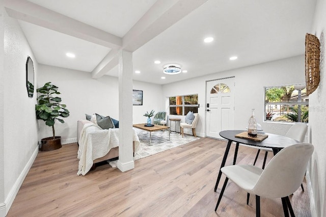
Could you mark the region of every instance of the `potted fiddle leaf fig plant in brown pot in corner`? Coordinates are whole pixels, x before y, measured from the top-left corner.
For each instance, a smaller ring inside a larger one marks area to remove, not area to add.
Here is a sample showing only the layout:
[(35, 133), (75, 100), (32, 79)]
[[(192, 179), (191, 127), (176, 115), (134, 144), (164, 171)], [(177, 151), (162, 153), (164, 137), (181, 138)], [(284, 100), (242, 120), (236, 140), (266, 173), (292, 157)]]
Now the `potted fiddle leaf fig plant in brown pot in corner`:
[(51, 151), (62, 147), (61, 137), (56, 137), (55, 123), (58, 120), (61, 123), (65, 121), (62, 118), (69, 116), (69, 111), (65, 104), (61, 104), (61, 94), (58, 87), (52, 85), (51, 82), (45, 83), (43, 87), (36, 90), (39, 93), (37, 103), (35, 105), (36, 119), (45, 121), (47, 126), (52, 127), (53, 137), (41, 140), (41, 151)]

